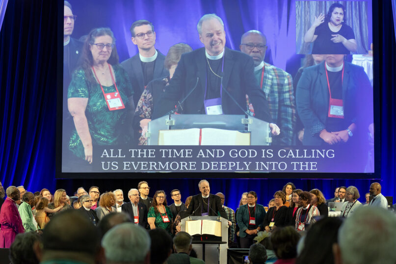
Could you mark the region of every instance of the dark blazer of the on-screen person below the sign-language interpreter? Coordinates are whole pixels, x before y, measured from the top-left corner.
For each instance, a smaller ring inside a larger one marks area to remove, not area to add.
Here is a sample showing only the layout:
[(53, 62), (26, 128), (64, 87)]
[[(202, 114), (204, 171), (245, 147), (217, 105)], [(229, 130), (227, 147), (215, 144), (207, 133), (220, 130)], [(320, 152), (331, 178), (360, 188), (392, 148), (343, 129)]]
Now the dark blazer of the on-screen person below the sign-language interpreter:
[[(356, 123), (353, 138), (367, 141), (367, 128), (373, 122), (372, 87), (363, 67), (344, 61), (343, 106), (345, 128)], [(319, 132), (326, 128), (329, 109), (329, 91), (324, 62), (305, 68), (296, 90), (298, 115), (304, 124), (303, 145), (320, 146), (324, 141)], [(360, 133), (359, 133), (360, 132)], [(356, 133), (356, 134), (355, 134)]]

